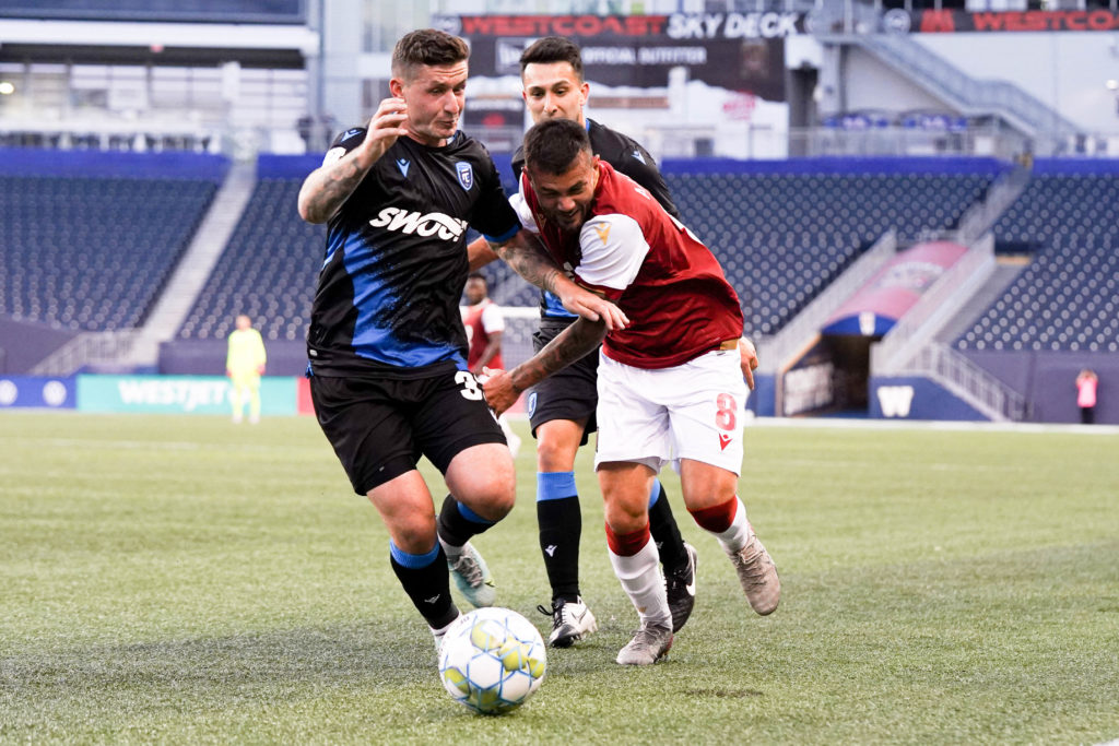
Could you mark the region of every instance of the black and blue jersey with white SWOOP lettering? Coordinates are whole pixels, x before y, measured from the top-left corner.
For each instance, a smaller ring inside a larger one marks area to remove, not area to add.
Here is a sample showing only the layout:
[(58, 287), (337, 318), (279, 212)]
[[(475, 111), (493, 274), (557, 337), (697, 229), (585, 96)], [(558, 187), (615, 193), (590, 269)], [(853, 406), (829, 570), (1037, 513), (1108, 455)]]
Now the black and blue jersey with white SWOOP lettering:
[[(323, 162), (365, 135), (347, 130)], [(312, 374), (464, 370), (468, 225), (496, 242), (520, 228), (486, 148), (461, 132), (442, 148), (397, 139), (327, 224), (307, 340)]]

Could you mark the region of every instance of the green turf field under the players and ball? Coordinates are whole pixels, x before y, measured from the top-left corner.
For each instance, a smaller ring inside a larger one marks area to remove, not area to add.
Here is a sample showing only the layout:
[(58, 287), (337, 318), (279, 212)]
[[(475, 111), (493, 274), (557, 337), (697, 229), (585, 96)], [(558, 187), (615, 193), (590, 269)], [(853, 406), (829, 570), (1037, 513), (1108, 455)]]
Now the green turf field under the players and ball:
[[(499, 603), (546, 633), (530, 444), (517, 509), (477, 545)], [(1119, 738), (1119, 436), (755, 426), (746, 448), (781, 607), (750, 611), (666, 475), (696, 612), (666, 661), (617, 665), (636, 614), (584, 448), (601, 629), (495, 718), (443, 691), (376, 512), (311, 419), (2, 413), (0, 742)]]

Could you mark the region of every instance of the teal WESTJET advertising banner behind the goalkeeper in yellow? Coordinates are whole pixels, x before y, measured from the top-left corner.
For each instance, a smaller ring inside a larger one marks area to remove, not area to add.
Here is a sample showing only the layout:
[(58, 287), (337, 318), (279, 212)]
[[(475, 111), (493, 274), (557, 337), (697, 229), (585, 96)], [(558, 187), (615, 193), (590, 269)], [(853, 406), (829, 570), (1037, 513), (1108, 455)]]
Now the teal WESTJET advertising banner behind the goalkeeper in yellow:
[[(261, 379), (261, 414), (295, 414), (295, 378)], [(82, 412), (229, 415), (233, 387), (222, 376), (78, 376)]]

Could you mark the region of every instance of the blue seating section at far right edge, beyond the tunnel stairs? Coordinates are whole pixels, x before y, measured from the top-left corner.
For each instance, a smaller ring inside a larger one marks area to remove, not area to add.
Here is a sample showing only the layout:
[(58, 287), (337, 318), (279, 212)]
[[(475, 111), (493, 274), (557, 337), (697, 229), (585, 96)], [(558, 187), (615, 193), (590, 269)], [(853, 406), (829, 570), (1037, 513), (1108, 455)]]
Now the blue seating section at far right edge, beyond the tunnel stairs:
[(995, 226), (1004, 253), (1033, 261), (956, 346), (1119, 351), (1117, 204), (1117, 174), (1035, 176)]

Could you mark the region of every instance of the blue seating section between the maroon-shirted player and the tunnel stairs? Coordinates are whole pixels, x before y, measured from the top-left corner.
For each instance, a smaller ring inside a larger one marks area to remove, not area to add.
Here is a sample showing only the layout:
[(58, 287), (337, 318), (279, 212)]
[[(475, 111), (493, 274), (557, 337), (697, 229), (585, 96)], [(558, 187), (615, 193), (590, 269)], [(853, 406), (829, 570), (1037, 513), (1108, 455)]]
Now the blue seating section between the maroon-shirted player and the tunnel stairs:
[[(882, 234), (953, 227), (989, 173), (668, 173), (685, 224), (720, 257), (746, 329), (772, 334)], [(508, 273), (500, 282), (517, 282)], [(493, 280), (491, 278), (491, 284)], [(532, 305), (536, 291), (492, 292)]]

